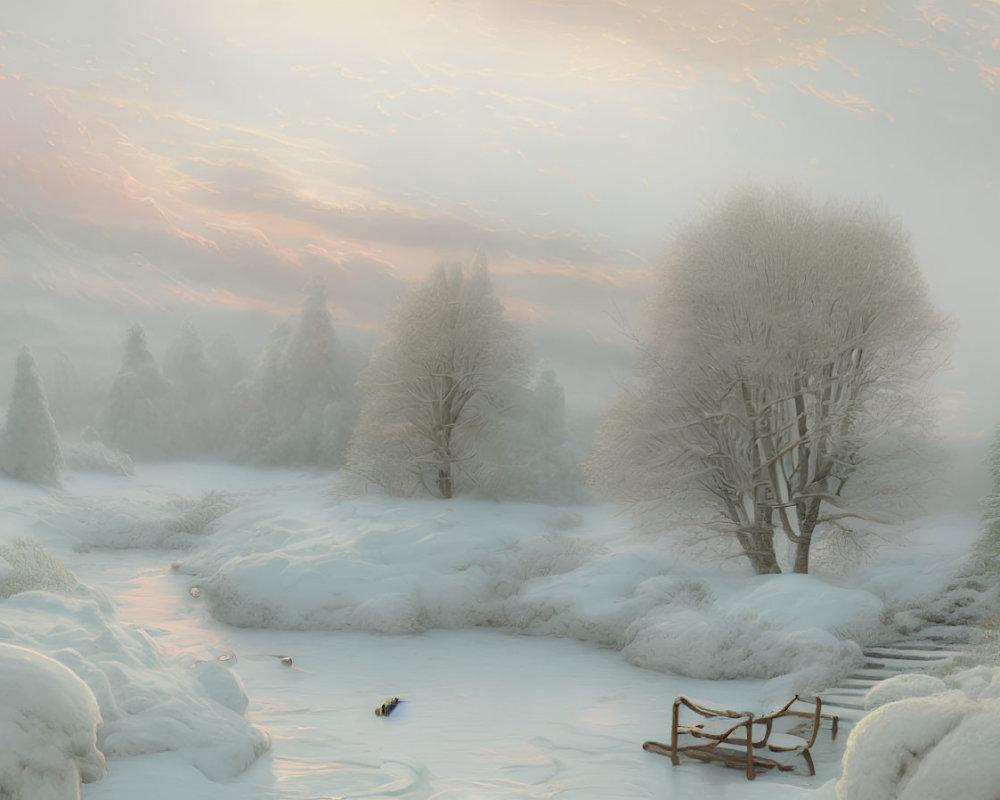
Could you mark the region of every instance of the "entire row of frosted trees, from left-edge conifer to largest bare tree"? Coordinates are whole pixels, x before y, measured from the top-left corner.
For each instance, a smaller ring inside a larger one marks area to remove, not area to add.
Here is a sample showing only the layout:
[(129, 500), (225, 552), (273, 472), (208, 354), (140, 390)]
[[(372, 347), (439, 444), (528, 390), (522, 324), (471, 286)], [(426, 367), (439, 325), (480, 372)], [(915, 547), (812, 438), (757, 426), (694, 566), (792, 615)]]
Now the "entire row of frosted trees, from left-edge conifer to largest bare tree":
[[(0, 465), (52, 483), (64, 458), (127, 471), (130, 458), (212, 454), (343, 469), (393, 495), (556, 503), (589, 483), (654, 526), (716, 531), (760, 573), (780, 571), (784, 537), (806, 572), (817, 531), (849, 534), (851, 520), (912, 497), (944, 327), (896, 222), (744, 188), (676, 238), (636, 334), (634, 379), (583, 464), (562, 388), (536, 369), (476, 261), (413, 285), (360, 375), (320, 281), (252, 370), (232, 340), (209, 351), (190, 324), (161, 365), (134, 325), (103, 406), (65, 447), (25, 349)], [(63, 426), (81, 421), (73, 382), (66, 365), (53, 406)]]

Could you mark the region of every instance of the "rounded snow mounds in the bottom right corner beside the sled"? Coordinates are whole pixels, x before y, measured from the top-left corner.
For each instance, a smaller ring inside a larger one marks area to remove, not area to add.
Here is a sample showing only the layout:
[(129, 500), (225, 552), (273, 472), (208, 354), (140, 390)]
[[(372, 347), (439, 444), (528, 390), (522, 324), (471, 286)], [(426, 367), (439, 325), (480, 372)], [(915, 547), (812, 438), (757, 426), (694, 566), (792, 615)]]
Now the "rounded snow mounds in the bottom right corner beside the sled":
[(956, 789), (962, 800), (996, 798), (1000, 667), (896, 676), (865, 705), (882, 702), (851, 731), (838, 800), (940, 800)]

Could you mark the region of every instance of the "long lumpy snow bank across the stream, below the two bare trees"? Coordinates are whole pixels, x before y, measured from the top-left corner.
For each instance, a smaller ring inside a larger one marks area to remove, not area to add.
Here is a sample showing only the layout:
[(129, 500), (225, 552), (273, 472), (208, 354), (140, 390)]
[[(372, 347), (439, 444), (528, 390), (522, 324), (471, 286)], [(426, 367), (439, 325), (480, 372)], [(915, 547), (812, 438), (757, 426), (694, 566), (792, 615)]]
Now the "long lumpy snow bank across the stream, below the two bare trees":
[(881, 602), (797, 575), (720, 575), (607, 509), (387, 501), (302, 488), (216, 523), (183, 562), (244, 627), (413, 633), (481, 625), (617, 648), (693, 677), (825, 688), (861, 660)]

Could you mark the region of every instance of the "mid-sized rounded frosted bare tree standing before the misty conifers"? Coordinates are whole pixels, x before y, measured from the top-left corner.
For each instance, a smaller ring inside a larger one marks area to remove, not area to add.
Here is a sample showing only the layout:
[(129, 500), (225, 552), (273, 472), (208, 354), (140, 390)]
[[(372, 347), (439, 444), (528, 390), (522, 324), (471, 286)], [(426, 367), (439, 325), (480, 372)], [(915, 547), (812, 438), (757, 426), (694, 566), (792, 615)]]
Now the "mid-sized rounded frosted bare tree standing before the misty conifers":
[(528, 379), (485, 263), (438, 267), (404, 295), (362, 376), (348, 466), (394, 494), (502, 491), (484, 483), (501, 474), (502, 421)]

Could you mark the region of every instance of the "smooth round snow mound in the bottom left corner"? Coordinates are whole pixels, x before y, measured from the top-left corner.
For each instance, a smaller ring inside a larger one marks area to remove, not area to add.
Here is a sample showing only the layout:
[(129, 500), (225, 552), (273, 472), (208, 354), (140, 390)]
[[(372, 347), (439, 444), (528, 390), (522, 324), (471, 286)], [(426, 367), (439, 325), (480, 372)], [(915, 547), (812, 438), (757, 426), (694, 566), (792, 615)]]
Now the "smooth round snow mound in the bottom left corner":
[(0, 797), (76, 800), (107, 772), (94, 693), (47, 656), (0, 643)]

